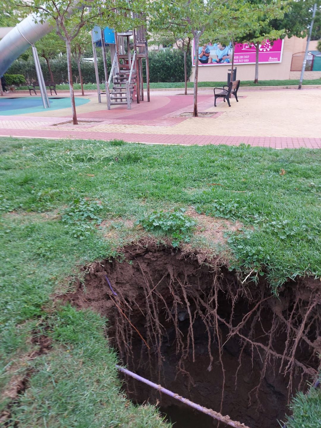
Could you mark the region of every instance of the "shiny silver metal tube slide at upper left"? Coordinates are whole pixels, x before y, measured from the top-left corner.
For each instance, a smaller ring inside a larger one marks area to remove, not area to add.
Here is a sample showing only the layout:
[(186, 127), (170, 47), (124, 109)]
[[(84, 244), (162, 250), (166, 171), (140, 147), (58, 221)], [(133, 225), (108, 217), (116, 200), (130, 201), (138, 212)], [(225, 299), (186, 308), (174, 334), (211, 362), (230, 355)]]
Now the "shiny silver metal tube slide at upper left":
[(50, 33), (52, 27), (44, 22), (40, 23), (36, 14), (29, 15), (19, 22), (3, 39), (0, 40), (0, 76), (4, 74), (10, 64), (24, 53), (30, 45)]

